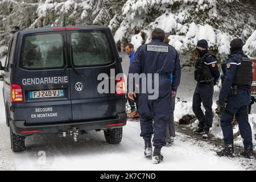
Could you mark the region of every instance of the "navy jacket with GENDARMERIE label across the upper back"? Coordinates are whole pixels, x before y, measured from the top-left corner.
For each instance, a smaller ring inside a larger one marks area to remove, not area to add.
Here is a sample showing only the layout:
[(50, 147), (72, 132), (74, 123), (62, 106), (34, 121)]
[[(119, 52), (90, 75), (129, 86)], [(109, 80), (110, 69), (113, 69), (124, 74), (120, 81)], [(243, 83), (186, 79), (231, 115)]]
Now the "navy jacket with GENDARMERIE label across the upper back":
[(159, 78), (169, 79), (172, 73), (172, 90), (176, 91), (181, 77), (179, 55), (174, 47), (155, 39), (137, 49), (129, 73), (159, 73)]

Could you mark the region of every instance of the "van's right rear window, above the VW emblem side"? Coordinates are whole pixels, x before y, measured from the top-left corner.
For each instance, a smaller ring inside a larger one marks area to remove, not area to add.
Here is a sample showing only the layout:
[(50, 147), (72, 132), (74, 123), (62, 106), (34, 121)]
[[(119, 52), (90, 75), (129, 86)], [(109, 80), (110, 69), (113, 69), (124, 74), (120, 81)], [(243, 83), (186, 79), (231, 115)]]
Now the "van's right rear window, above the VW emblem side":
[(112, 47), (104, 31), (71, 34), (73, 64), (77, 67), (105, 65), (114, 62)]

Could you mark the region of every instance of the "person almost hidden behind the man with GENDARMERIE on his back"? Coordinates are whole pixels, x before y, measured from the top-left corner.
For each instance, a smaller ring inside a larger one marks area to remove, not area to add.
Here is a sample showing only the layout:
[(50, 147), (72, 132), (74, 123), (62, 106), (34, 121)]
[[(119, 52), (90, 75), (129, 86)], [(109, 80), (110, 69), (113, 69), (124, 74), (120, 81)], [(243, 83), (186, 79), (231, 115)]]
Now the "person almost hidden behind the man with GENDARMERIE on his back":
[[(167, 36), (164, 38), (164, 43), (169, 44), (169, 39)], [(171, 73), (171, 83), (172, 83), (172, 73)], [(170, 110), (170, 119), (167, 124), (167, 133), (166, 133), (166, 146), (170, 147), (174, 143), (175, 137), (175, 127), (174, 127), (174, 109), (175, 109), (175, 97), (176, 92), (171, 92), (171, 110)]]

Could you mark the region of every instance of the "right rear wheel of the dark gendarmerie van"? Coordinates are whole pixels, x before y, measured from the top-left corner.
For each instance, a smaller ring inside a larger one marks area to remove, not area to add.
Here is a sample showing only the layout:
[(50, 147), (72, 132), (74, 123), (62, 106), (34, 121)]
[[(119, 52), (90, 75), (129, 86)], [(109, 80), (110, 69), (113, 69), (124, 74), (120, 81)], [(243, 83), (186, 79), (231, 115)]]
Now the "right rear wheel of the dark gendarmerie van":
[(106, 142), (110, 144), (118, 144), (122, 140), (123, 128), (118, 127), (115, 129), (104, 130), (104, 135), (105, 135)]

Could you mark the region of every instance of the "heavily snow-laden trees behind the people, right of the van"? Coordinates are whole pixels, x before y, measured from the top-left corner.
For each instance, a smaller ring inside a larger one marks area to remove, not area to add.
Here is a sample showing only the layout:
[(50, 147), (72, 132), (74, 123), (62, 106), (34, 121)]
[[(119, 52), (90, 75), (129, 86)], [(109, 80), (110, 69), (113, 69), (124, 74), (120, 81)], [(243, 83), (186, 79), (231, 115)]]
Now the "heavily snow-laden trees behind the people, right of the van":
[(254, 7), (255, 1), (130, 0), (123, 5), (115, 41), (129, 40), (139, 46), (149, 42), (152, 29), (159, 27), (180, 53), (195, 48), (197, 40), (207, 39), (210, 48), (226, 55), (233, 38), (246, 41), (255, 31)]

